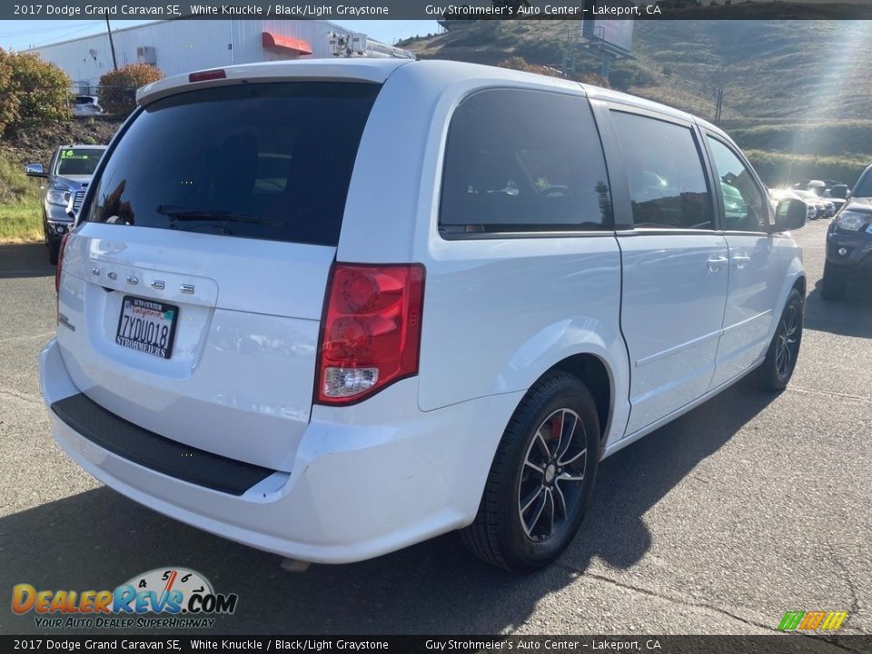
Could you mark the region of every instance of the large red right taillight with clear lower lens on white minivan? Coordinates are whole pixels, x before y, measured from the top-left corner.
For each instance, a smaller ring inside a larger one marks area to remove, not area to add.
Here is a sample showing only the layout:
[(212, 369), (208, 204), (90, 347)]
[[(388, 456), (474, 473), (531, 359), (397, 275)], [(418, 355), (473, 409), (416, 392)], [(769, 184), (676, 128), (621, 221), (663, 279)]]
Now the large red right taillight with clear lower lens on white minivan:
[(424, 267), (334, 263), (315, 401), (351, 404), (418, 373)]

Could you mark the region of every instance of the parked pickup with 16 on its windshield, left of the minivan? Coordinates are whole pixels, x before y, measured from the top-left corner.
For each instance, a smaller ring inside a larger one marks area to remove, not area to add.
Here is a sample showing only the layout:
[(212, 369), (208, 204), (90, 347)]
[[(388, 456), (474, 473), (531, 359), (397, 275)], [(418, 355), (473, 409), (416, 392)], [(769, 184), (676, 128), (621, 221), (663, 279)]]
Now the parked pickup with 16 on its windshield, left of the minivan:
[(78, 211), (84, 193), (75, 194), (87, 188), (94, 174), (94, 168), (106, 149), (105, 145), (59, 145), (52, 154), (45, 172), (42, 163), (28, 163), (25, 173), (31, 177), (45, 179), (43, 196), (43, 233), (48, 246), (48, 259), (57, 263), (61, 240), (73, 226), (74, 216), (71, 212)]

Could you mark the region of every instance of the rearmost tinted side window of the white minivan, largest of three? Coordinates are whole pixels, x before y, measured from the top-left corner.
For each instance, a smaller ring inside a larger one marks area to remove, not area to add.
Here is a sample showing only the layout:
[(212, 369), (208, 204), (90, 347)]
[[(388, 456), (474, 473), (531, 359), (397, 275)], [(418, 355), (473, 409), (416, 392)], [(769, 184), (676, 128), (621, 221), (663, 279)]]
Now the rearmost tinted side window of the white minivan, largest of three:
[(494, 89), (454, 112), (440, 233), (611, 229), (609, 178), (585, 98)]

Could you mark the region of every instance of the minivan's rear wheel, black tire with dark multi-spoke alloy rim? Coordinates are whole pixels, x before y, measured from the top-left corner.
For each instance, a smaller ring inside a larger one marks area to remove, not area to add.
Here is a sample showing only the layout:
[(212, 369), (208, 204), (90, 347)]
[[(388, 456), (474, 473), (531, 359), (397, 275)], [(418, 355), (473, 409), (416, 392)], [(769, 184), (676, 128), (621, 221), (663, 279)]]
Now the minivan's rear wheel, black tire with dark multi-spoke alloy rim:
[[(560, 438), (554, 439), (551, 434), (558, 425)], [(563, 438), (568, 439), (565, 445)], [(530, 465), (531, 459), (539, 467)], [(567, 372), (550, 372), (530, 388), (512, 415), (490, 466), (479, 512), (461, 531), (464, 543), (481, 560), (505, 570), (531, 572), (547, 566), (579, 530), (598, 465), (599, 418), (590, 391)], [(528, 504), (525, 513), (522, 504), (530, 498), (536, 503)]]

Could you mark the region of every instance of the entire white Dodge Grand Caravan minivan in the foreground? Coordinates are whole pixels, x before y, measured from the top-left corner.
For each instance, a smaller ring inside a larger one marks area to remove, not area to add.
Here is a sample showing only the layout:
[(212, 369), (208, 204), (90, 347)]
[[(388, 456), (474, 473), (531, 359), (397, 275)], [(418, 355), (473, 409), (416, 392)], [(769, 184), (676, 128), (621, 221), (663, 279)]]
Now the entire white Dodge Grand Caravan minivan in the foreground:
[(462, 529), (533, 570), (600, 459), (794, 370), (806, 207), (773, 210), (693, 116), (396, 60), (233, 66), (138, 103), (40, 368), (64, 450), (175, 519), (325, 563)]

